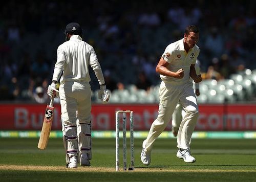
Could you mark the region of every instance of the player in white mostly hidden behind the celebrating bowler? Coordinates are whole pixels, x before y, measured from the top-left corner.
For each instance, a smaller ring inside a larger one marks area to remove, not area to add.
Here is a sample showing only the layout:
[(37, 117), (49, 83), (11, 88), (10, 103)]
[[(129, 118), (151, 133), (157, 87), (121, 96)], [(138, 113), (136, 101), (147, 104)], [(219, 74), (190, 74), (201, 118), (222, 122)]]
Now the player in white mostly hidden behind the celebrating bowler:
[[(195, 64), (195, 69), (197, 75), (200, 74), (200, 61), (197, 59), (196, 64)], [(189, 79), (189, 81), (194, 82), (193, 79)], [(200, 90), (199, 90), (199, 83), (195, 83), (195, 94), (196, 96), (200, 95)], [(184, 118), (186, 115), (186, 111), (183, 109), (182, 105), (180, 103), (177, 104), (174, 113), (173, 113), (173, 118), (172, 118), (172, 132), (174, 134), (174, 137), (177, 137), (179, 128), (180, 128), (180, 123), (182, 121), (182, 118)]]

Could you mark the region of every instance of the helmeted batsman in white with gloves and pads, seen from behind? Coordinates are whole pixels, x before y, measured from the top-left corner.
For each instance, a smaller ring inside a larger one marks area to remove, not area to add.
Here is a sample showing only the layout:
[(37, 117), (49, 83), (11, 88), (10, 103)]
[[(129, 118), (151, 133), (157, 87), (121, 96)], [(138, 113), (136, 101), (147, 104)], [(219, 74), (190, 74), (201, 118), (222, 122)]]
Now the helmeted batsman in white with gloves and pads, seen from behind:
[[(77, 168), (77, 161), (80, 161), (81, 166), (90, 166), (92, 159), (89, 65), (99, 81), (98, 98), (102, 103), (109, 101), (110, 90), (106, 89), (93, 47), (82, 40), (80, 25), (76, 22), (68, 24), (65, 36), (66, 42), (57, 49), (57, 61), (48, 95), (55, 97), (59, 92), (63, 143), (67, 151), (66, 163), (68, 168)], [(56, 82), (59, 78), (60, 86), (57, 90)]]

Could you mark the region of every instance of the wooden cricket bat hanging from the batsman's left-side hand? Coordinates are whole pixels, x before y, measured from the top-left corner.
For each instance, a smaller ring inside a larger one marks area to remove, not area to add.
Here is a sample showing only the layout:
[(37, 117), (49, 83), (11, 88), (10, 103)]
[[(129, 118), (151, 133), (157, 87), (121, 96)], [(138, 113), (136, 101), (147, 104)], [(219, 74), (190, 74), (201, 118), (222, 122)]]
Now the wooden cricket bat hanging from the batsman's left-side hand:
[(42, 150), (44, 150), (47, 147), (49, 135), (51, 132), (54, 111), (53, 100), (54, 98), (51, 97), (50, 105), (46, 107), (44, 122), (42, 122), (40, 139), (37, 145), (37, 147)]

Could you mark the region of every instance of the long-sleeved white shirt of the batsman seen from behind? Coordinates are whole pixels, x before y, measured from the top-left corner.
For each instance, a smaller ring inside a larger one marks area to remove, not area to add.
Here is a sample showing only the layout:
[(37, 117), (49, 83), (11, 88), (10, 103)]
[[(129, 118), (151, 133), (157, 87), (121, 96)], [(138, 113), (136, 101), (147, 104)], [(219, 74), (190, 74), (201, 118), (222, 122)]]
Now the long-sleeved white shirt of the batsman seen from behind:
[(69, 41), (59, 45), (52, 80), (90, 82), (89, 65), (98, 74), (99, 84), (104, 84), (104, 77), (93, 47), (79, 35), (72, 35)]

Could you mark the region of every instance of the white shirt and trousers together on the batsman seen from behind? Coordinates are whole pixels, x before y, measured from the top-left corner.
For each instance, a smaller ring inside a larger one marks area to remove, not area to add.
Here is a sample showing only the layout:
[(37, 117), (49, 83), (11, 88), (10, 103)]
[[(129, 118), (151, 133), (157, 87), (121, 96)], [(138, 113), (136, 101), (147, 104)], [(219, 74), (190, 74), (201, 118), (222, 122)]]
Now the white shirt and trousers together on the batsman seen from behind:
[(89, 65), (91, 65), (99, 84), (104, 77), (93, 47), (79, 35), (72, 35), (69, 41), (59, 45), (53, 78), (60, 78), (59, 97), (61, 120), (63, 124), (76, 126), (91, 120), (91, 86)]

